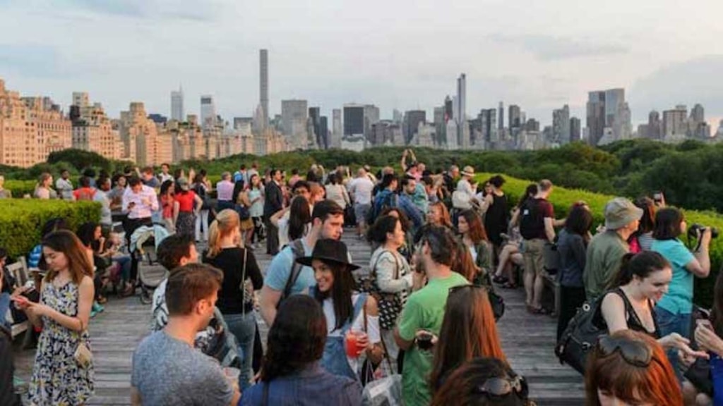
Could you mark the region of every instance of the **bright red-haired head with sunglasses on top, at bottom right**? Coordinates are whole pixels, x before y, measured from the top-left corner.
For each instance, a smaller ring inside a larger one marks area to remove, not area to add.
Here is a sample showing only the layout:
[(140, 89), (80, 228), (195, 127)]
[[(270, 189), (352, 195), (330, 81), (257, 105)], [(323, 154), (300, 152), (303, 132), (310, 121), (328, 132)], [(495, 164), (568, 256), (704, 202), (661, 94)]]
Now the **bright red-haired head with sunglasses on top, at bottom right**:
[(599, 340), (588, 359), (585, 390), (587, 406), (683, 405), (663, 347), (648, 334), (633, 330)]

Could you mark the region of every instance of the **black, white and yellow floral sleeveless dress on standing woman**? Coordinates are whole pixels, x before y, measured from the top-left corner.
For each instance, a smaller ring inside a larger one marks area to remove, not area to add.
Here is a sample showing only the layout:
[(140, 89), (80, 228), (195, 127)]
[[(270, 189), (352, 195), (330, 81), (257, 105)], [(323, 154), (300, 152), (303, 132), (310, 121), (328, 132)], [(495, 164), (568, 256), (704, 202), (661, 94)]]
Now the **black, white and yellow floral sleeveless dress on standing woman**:
[[(43, 283), (40, 303), (67, 316), (78, 314), (78, 285), (67, 282), (61, 288)], [(80, 341), (90, 349), (87, 330), (79, 333), (43, 316), (43, 332), (35, 353), (33, 379), (30, 382), (32, 405), (80, 405), (93, 395), (93, 364), (78, 366), (74, 353)]]

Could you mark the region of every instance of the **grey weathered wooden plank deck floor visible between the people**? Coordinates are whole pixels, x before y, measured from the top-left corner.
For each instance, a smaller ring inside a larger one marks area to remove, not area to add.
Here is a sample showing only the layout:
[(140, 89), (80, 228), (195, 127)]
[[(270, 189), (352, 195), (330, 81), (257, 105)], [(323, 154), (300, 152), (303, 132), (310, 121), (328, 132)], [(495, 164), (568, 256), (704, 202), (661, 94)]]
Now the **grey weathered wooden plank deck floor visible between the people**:
[[(369, 264), (369, 246), (345, 233), (354, 262)], [(270, 256), (257, 249), (261, 269), (266, 269)], [(555, 346), (556, 321), (549, 316), (531, 316), (525, 311), (522, 290), (501, 290), (505, 298), (505, 316), (498, 324), (502, 347), (515, 371), (529, 381), (531, 397), (539, 405), (582, 405), (583, 380), (568, 366), (557, 362)], [(262, 339), (268, 329), (260, 320)], [(95, 397), (88, 405), (129, 405), (131, 358), (138, 342), (150, 328), (150, 305), (142, 305), (137, 297), (110, 298), (106, 311), (90, 323), (90, 338), (95, 355)], [(16, 343), (17, 344), (17, 343)], [(19, 348), (19, 345), (16, 345)], [(33, 368), (34, 351), (18, 350), (15, 366), (22, 379), (28, 381)]]

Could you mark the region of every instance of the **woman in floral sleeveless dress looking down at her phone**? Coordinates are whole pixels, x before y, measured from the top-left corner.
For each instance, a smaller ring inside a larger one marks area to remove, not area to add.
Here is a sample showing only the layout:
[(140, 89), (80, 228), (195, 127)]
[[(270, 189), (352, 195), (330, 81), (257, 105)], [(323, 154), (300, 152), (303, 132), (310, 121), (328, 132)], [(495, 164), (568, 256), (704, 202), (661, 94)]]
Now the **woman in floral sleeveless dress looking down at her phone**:
[(93, 305), (93, 265), (80, 240), (67, 230), (43, 239), (48, 273), (40, 303), (15, 298), (35, 327), (42, 327), (35, 353), (30, 402), (82, 405), (93, 395), (93, 362), (82, 366), (79, 345), (90, 350), (87, 325)]

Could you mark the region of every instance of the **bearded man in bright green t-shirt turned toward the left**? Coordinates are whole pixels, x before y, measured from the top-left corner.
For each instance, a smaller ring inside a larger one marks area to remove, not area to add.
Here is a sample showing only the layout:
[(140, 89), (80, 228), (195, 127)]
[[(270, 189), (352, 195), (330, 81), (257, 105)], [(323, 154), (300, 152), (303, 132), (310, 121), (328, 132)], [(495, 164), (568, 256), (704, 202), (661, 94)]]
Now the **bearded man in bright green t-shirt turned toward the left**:
[(440, 334), (450, 288), (469, 283), (450, 269), (455, 251), (454, 236), (450, 230), (443, 227), (428, 228), (420, 244), (419, 260), (428, 283), (409, 296), (394, 330), (397, 345), (406, 351), (402, 396), (407, 406), (426, 406), (432, 399), (427, 381), (432, 372), (432, 349), (420, 349), (416, 345), (417, 337), (424, 332), (435, 336)]

